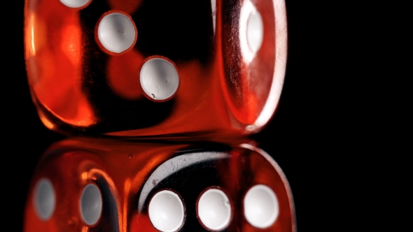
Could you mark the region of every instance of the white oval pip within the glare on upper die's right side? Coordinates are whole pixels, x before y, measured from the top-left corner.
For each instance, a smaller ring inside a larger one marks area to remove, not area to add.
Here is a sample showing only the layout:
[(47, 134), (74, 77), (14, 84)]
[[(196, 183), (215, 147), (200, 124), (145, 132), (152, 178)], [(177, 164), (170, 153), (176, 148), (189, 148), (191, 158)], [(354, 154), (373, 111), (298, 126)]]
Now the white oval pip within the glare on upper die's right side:
[(246, 41), (251, 51), (255, 53), (260, 50), (263, 37), (264, 26), (262, 24), (262, 17), (258, 11), (253, 11), (249, 15), (246, 24)]

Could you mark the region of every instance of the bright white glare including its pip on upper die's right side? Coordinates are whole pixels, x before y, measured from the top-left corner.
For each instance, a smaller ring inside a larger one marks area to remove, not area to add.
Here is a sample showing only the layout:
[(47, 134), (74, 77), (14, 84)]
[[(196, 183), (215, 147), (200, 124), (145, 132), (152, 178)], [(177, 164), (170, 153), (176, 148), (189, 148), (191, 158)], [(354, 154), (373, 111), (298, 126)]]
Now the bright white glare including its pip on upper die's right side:
[(239, 43), (242, 57), (250, 63), (260, 50), (264, 37), (262, 17), (251, 1), (245, 1), (239, 16)]

